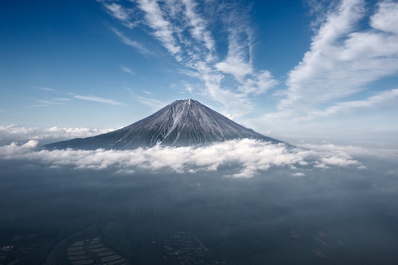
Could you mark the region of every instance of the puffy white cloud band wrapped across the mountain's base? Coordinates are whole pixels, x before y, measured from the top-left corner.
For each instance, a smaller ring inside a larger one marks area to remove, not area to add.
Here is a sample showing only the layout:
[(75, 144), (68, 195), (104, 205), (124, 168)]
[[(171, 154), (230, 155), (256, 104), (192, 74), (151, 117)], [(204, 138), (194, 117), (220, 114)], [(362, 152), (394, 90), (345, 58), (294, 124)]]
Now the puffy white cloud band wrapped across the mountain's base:
[(0, 159), (40, 161), (50, 167), (71, 166), (76, 169), (108, 169), (133, 173), (141, 168), (150, 171), (169, 169), (176, 173), (216, 171), (229, 167), (229, 177), (254, 177), (271, 167), (288, 167), (292, 176), (303, 177), (312, 168), (355, 167), (363, 165), (338, 148), (327, 150), (289, 149), (257, 140), (233, 140), (207, 147), (161, 147), (128, 151), (40, 150), (38, 141), (11, 143), (0, 147)]

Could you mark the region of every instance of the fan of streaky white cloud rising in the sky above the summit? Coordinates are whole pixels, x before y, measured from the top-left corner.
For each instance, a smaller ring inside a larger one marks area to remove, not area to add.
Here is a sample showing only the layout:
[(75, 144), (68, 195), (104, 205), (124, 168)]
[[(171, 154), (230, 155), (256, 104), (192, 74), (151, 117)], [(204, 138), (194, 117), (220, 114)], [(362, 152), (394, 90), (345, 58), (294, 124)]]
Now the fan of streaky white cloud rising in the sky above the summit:
[[(253, 67), (254, 38), (245, 3), (137, 0), (134, 6), (140, 26), (145, 25), (143, 32), (158, 40), (184, 67), (178, 70), (180, 73), (198, 78), (203, 83), (198, 92), (221, 102), (225, 112), (233, 112), (236, 117), (250, 113), (252, 97), (278, 84), (269, 71)], [(216, 15), (208, 15), (214, 12)], [(219, 59), (221, 53), (216, 50), (214, 33), (209, 27), (214, 23), (222, 25), (228, 33), (225, 58)], [(137, 46), (119, 31), (112, 30), (124, 43)], [(222, 81), (226, 78), (234, 80), (235, 85), (223, 86)]]

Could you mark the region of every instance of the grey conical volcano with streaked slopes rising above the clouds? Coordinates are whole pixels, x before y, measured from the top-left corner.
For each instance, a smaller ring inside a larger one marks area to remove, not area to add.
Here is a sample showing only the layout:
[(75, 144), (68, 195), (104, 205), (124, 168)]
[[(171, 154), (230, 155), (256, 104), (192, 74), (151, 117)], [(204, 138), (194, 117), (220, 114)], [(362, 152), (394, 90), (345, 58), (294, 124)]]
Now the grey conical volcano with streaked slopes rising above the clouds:
[(119, 130), (87, 138), (44, 145), (45, 149), (98, 148), (129, 150), (164, 146), (205, 146), (233, 139), (282, 141), (264, 136), (233, 122), (193, 99), (174, 101), (154, 114)]

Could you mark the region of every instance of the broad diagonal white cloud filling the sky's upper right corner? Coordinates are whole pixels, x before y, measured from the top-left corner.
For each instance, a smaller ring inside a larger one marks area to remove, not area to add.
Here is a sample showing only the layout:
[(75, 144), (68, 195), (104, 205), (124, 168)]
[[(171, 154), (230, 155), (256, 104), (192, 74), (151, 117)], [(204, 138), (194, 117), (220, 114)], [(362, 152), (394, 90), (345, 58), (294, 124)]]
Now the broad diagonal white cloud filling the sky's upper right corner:
[(361, 30), (359, 23), (367, 15), (363, 0), (342, 0), (328, 10), (315, 30), (310, 50), (289, 73), (279, 111), (295, 109), (303, 116), (322, 111), (322, 104), (341, 100), (397, 73), (397, 12), (397, 2), (380, 1), (369, 17), (369, 28)]

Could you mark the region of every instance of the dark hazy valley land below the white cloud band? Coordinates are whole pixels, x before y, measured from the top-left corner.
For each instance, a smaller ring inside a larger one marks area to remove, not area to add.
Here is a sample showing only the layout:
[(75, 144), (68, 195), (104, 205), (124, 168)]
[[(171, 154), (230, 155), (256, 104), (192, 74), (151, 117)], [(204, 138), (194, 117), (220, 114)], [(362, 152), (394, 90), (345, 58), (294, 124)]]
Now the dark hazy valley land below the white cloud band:
[(1, 160), (0, 264), (396, 264), (396, 166), (363, 164), (242, 179)]

